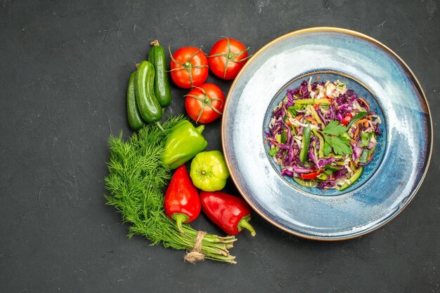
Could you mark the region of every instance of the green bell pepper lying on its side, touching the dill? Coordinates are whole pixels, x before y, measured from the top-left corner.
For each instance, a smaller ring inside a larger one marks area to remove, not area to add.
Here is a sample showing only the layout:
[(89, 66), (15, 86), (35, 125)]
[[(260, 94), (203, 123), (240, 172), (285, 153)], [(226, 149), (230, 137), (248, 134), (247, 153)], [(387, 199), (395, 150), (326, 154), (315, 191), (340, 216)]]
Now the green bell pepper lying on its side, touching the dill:
[(176, 169), (206, 149), (208, 142), (202, 135), (204, 129), (205, 125), (195, 128), (188, 120), (174, 125), (165, 142), (162, 162), (169, 165), (169, 168)]

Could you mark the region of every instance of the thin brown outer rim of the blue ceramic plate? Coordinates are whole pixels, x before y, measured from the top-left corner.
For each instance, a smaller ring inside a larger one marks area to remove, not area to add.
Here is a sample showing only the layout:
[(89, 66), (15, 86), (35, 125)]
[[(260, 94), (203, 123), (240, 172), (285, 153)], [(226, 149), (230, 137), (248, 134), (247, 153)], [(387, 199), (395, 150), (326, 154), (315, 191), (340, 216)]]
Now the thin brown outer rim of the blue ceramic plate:
[[(430, 135), (430, 144), (429, 144), (429, 154), (427, 156), (427, 165), (426, 168), (422, 174), (422, 178), (420, 179), (420, 182), (418, 182), (418, 185), (415, 186), (415, 189), (412, 191), (412, 196), (410, 197), (410, 200), (408, 200), (408, 202), (403, 205), (403, 207), (401, 207), (401, 209), (399, 211), (396, 212), (396, 214), (394, 214), (392, 217), (390, 217), (389, 219), (387, 219), (387, 221), (379, 224), (378, 226), (376, 226), (374, 229), (370, 229), (370, 230), (366, 230), (363, 231), (361, 233), (358, 233), (354, 236), (346, 236), (346, 237), (342, 237), (342, 238), (323, 238), (323, 237), (313, 237), (313, 236), (309, 236), (309, 235), (304, 235), (302, 233), (299, 233), (297, 231), (292, 231), (291, 229), (287, 229), (286, 227), (278, 224), (277, 222), (275, 222), (273, 219), (270, 219), (269, 217), (266, 216), (266, 214), (264, 214), (263, 212), (261, 212), (261, 210), (258, 209), (258, 207), (256, 207), (255, 205), (252, 204), (252, 201), (250, 200), (250, 197), (247, 193), (245, 193), (242, 188), (238, 185), (237, 180), (235, 179), (235, 173), (231, 168), (231, 163), (229, 162), (228, 156), (226, 156), (226, 137), (225, 137), (225, 129), (226, 129), (226, 117), (227, 117), (227, 112), (226, 109), (228, 108), (228, 104), (229, 104), (229, 100), (231, 97), (231, 93), (233, 92), (233, 88), (235, 87), (235, 83), (237, 83), (238, 79), (240, 78), (240, 76), (242, 75), (242, 72), (245, 71), (245, 68), (247, 68), (248, 64), (250, 64), (252, 62), (252, 60), (254, 60), (254, 58), (259, 55), (260, 53), (262, 53), (264, 50), (266, 50), (266, 48), (268, 48), (269, 46), (271, 46), (273, 43), (276, 43), (282, 39), (288, 38), (290, 36), (296, 36), (296, 35), (300, 35), (300, 34), (308, 34), (308, 33), (313, 33), (313, 32), (337, 32), (337, 33), (342, 33), (342, 34), (349, 34), (351, 36), (356, 36), (362, 39), (366, 39), (367, 41), (370, 41), (371, 43), (376, 44), (377, 46), (380, 46), (381, 48), (383, 48), (384, 50), (386, 50), (388, 53), (390, 53), (392, 56), (394, 56), (396, 58), (396, 60), (398, 60), (399, 62), (401, 62), (401, 64), (403, 65), (403, 67), (408, 70), (408, 73), (410, 74), (410, 78), (412, 78), (415, 81), (415, 86), (418, 87), (418, 90), (420, 90), (420, 93), (422, 94), (422, 98), (425, 101), (426, 107), (427, 107), (427, 114), (428, 114), (428, 121), (429, 121), (429, 135)], [(228, 91), (228, 95), (226, 97), (226, 103), (224, 105), (224, 115), (222, 115), (221, 118), (221, 145), (222, 145), (222, 149), (225, 155), (225, 161), (226, 161), (226, 165), (228, 167), (228, 170), (231, 174), (231, 179), (233, 180), (235, 187), (238, 189), (238, 191), (240, 192), (242, 198), (244, 198), (246, 200), (247, 203), (249, 203), (249, 205), (252, 207), (252, 209), (257, 212), (261, 217), (263, 217), (267, 222), (269, 222), (270, 224), (272, 224), (273, 226), (276, 226), (278, 229), (281, 229), (282, 231), (285, 231), (287, 233), (290, 233), (292, 235), (295, 236), (299, 236), (302, 238), (306, 238), (309, 240), (319, 240), (319, 241), (342, 241), (342, 240), (349, 240), (349, 239), (353, 239), (353, 238), (358, 238), (364, 235), (367, 235), (369, 233), (372, 233), (373, 231), (376, 231), (377, 229), (380, 229), (382, 226), (388, 224), (389, 222), (392, 222), (393, 219), (396, 219), (396, 217), (401, 214), (401, 212), (403, 210), (405, 210), (405, 208), (409, 205), (409, 203), (415, 198), (416, 194), (418, 193), (420, 186), (422, 186), (422, 183), (425, 181), (425, 177), (427, 175), (427, 172), (429, 170), (429, 165), (431, 163), (431, 158), (432, 158), (432, 149), (433, 149), (433, 145), (434, 145), (434, 129), (432, 127), (432, 115), (431, 115), (431, 109), (429, 108), (429, 102), (426, 98), (425, 95), (425, 90), (423, 90), (420, 81), (417, 79), (417, 77), (415, 76), (415, 74), (413, 73), (413, 71), (410, 69), (410, 67), (408, 66), (408, 64), (406, 64), (406, 62), (403, 61), (403, 59), (397, 55), (392, 49), (390, 49), (389, 47), (387, 47), (386, 45), (384, 45), (383, 43), (381, 43), (380, 41), (377, 41), (376, 39), (373, 39), (371, 36), (368, 36), (366, 34), (362, 34), (361, 32), (356, 32), (354, 30), (351, 29), (344, 29), (341, 27), (307, 27), (304, 29), (297, 29), (295, 31), (289, 32), (287, 34), (283, 34), (282, 36), (278, 36), (276, 39), (273, 39), (272, 41), (266, 43), (266, 45), (264, 45), (263, 47), (261, 47), (259, 50), (257, 50), (256, 53), (254, 53), (252, 55), (252, 57), (250, 57), (250, 60), (248, 60), (245, 64), (244, 67), (242, 67), (242, 69), (240, 70), (240, 72), (238, 73), (238, 75), (235, 77), (231, 88)]]

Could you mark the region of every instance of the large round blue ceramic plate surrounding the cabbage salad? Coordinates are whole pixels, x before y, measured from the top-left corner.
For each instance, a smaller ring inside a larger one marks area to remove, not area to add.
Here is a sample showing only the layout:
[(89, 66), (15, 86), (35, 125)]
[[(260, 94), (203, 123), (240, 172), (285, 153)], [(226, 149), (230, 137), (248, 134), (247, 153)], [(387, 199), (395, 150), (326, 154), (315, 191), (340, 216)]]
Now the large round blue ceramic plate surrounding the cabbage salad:
[[(344, 191), (281, 176), (264, 144), (287, 89), (318, 76), (339, 79), (382, 118), (373, 161)], [(228, 94), (222, 141), (235, 185), (264, 219), (297, 236), (344, 240), (386, 224), (414, 197), (431, 158), (432, 121), (420, 83), (392, 50), (358, 32), (316, 27), (280, 36), (247, 62)]]

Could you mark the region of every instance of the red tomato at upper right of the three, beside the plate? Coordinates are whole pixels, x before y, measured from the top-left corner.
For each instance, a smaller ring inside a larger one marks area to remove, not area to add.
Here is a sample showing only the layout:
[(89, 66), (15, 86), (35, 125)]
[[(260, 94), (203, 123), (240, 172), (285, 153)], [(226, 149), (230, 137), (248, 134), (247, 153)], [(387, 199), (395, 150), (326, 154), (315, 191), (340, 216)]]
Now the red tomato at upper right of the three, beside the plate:
[(209, 68), (221, 79), (235, 79), (247, 62), (245, 45), (234, 39), (221, 39), (214, 43), (209, 52)]

